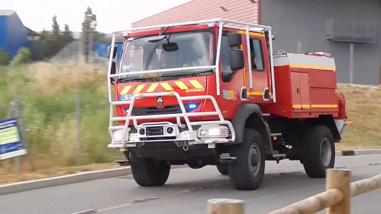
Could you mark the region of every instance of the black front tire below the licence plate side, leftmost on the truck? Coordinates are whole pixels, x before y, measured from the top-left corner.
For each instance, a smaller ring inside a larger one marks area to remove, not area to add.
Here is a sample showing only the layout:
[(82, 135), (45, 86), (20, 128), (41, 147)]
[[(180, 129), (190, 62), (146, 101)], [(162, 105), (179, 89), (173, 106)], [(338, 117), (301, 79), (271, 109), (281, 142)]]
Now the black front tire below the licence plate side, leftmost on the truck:
[(137, 184), (143, 187), (157, 187), (165, 184), (171, 165), (166, 161), (139, 158), (131, 153), (131, 171)]

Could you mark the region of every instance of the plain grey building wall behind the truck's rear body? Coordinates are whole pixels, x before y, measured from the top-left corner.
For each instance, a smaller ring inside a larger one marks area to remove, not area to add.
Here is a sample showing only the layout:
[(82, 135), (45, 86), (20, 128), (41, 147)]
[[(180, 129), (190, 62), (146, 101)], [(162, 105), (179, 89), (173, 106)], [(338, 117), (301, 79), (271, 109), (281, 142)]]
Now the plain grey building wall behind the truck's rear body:
[(261, 24), (273, 27), (274, 52), (325, 51), (335, 57), (338, 82), (348, 83), (350, 43), (327, 40), (331, 18), (370, 19), (378, 31), (376, 43), (354, 43), (353, 82), (379, 84), (381, 65), (380, 0), (261, 0)]

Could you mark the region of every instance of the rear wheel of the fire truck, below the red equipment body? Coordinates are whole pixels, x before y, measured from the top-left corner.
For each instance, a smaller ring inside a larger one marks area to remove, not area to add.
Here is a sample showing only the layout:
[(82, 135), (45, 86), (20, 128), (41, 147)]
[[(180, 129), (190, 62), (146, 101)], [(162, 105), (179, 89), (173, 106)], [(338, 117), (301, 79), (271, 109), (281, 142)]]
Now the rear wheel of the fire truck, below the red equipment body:
[(309, 177), (325, 178), (325, 171), (335, 165), (335, 142), (324, 125), (310, 128), (303, 138), (303, 166)]

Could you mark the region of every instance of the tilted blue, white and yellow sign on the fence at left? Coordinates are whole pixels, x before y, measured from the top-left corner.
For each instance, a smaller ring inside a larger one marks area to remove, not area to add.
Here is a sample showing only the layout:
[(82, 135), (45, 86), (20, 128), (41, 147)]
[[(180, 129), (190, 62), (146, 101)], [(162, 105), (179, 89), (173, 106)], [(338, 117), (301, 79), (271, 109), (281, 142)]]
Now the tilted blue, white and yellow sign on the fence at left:
[(22, 146), (17, 118), (0, 121), (0, 160), (26, 154)]

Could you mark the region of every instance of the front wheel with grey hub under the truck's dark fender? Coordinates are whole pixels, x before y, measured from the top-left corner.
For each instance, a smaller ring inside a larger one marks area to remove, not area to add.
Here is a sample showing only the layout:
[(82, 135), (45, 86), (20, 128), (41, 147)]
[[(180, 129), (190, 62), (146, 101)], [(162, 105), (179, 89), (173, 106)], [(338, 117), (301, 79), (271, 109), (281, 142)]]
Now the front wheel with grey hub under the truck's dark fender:
[(243, 143), (231, 146), (229, 152), (231, 157), (237, 157), (227, 166), (234, 188), (256, 190), (262, 183), (265, 168), (265, 150), (261, 135), (254, 129), (246, 128)]

